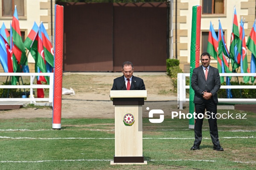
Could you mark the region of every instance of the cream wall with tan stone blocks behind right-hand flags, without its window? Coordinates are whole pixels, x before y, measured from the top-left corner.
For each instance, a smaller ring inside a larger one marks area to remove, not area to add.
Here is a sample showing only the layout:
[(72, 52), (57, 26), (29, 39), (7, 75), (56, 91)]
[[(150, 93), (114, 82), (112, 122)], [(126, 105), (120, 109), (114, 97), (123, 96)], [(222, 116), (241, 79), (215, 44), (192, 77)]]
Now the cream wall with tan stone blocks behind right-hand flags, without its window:
[[(196, 5), (202, 5), (202, 0), (177, 0), (177, 59), (180, 60), (180, 68), (184, 72), (189, 72), (192, 7)], [(218, 18), (220, 19), (221, 26), (225, 31), (225, 40), (228, 48), (230, 47), (234, 6), (236, 6), (236, 13), (239, 24), (241, 17), (245, 18), (244, 31), (247, 40), (255, 20), (255, 0), (225, 0), (224, 14), (201, 16), (201, 31), (209, 30), (210, 21), (212, 22), (215, 31), (218, 31)], [(175, 0), (173, 12), (173, 28), (175, 40)], [(175, 42), (173, 49), (173, 54), (175, 55)], [(250, 55), (250, 51), (247, 50), (249, 65)], [(215, 65), (214, 63), (216, 63), (216, 61), (212, 61), (213, 65)]]

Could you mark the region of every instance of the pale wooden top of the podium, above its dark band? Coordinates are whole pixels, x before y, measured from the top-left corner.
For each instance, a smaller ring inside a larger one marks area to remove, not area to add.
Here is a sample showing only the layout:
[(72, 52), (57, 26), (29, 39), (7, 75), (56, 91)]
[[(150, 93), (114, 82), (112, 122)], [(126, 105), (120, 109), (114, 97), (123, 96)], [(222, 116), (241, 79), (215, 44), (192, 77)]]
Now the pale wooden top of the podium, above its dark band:
[(147, 91), (146, 90), (135, 90), (135, 91), (121, 91), (115, 90), (110, 91), (110, 99), (113, 98), (144, 98), (147, 99)]

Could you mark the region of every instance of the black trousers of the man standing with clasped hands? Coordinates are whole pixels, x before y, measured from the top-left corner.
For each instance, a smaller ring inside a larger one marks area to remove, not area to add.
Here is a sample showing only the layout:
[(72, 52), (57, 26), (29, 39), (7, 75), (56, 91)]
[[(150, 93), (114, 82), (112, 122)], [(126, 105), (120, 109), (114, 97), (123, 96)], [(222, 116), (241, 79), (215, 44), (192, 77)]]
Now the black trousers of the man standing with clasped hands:
[[(207, 111), (206, 118), (208, 119), (209, 123), (209, 128), (210, 128), (210, 136), (212, 138), (212, 143), (214, 145), (219, 145), (219, 139), (218, 139), (218, 126), (217, 126), (217, 119), (215, 118), (215, 115), (217, 113), (217, 104), (214, 103), (212, 100), (205, 100), (202, 104), (196, 104), (195, 103), (195, 113), (196, 113), (196, 118), (195, 119), (195, 142), (194, 144), (201, 144), (202, 141), (202, 125), (204, 118), (199, 119), (198, 114), (202, 113), (205, 114), (205, 109)], [(202, 117), (199, 115), (199, 117)]]

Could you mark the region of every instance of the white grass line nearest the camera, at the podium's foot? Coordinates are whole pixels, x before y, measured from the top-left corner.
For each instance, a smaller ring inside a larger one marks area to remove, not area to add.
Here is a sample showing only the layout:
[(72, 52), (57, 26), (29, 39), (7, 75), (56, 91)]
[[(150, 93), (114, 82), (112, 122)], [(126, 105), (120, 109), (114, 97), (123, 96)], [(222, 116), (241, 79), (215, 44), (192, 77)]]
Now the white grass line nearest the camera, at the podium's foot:
[[(56, 161), (113, 161), (112, 159), (66, 159), (66, 160), (45, 160), (45, 161), (0, 161), (0, 163), (41, 163), (41, 162), (56, 162)], [(207, 161), (217, 162), (213, 160), (195, 160), (195, 159), (151, 159), (146, 161)], [(256, 163), (256, 161), (232, 161), (236, 163)]]

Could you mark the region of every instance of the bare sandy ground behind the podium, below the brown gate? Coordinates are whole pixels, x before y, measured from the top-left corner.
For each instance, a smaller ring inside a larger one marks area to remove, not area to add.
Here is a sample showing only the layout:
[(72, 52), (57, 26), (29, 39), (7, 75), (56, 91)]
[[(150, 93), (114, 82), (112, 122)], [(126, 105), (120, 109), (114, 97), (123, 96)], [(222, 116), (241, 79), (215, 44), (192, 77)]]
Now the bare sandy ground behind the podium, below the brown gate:
[[(122, 73), (64, 73), (63, 87), (72, 87), (75, 95), (62, 95), (62, 118), (114, 118), (114, 105), (109, 98), (113, 79)], [(151, 109), (161, 109), (165, 114), (177, 109), (177, 94), (170, 91), (173, 86), (165, 73), (134, 73), (143, 78), (147, 100), (143, 105), (143, 117)], [(82, 81), (83, 80), (83, 81)], [(152, 81), (154, 80), (154, 81)], [(103, 83), (104, 82), (104, 83)], [(149, 108), (149, 111), (146, 108)], [(1, 119), (51, 118), (51, 108), (26, 108), (0, 111)]]

